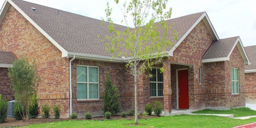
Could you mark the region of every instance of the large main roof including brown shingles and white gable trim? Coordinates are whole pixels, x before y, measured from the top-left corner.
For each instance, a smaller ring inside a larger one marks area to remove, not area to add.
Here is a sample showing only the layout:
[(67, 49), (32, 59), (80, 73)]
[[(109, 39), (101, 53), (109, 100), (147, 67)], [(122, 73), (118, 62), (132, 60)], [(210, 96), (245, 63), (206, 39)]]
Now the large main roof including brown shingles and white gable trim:
[[(3, 19), (4, 12), (7, 11), (9, 5), (14, 6), (49, 41), (60, 49), (62, 57), (77, 55), (90, 58), (111, 58), (112, 55), (105, 50), (105, 44), (98, 38), (98, 35), (109, 35), (108, 26), (101, 26), (101, 20), (22, 0), (6, 0), (1, 10), (2, 17), (0, 15), (0, 21)], [(36, 11), (32, 11), (32, 8), (35, 8)], [(201, 20), (204, 20), (207, 24), (213, 40), (218, 40), (218, 35), (213, 29), (206, 12), (166, 20), (169, 26), (175, 23), (172, 29), (176, 29), (179, 35), (178, 40), (170, 38), (174, 47), (167, 49), (170, 50), (169, 55), (172, 56), (176, 47)], [(115, 24), (115, 27), (120, 31), (126, 29), (126, 26), (117, 24)], [(172, 31), (169, 34), (173, 35)]]

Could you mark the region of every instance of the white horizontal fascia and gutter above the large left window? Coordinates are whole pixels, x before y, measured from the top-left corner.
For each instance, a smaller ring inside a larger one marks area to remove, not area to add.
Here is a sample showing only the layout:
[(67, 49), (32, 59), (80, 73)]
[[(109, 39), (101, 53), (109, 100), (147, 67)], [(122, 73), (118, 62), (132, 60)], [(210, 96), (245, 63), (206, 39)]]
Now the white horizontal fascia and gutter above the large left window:
[(93, 61), (111, 61), (111, 62), (122, 62), (122, 58), (112, 58), (109, 56), (102, 56), (102, 55), (92, 55), (92, 54), (83, 54), (83, 53), (75, 53), (75, 52), (67, 52), (68, 57), (73, 57), (73, 55), (76, 55), (76, 58), (81, 59), (88, 59)]

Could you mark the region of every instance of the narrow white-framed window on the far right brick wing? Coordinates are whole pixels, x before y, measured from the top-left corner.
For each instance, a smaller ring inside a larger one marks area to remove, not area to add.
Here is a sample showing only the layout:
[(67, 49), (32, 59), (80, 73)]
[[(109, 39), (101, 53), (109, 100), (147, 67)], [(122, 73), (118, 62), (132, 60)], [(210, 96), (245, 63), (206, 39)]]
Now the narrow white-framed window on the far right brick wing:
[(238, 70), (238, 68), (231, 68), (231, 87), (232, 87), (232, 94), (239, 93), (239, 70)]

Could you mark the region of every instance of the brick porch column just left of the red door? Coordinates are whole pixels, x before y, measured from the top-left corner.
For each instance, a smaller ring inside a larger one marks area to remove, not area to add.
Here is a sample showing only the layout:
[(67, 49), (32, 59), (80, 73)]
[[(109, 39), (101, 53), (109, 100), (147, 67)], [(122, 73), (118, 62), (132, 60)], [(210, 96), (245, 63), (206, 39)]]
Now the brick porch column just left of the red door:
[(172, 112), (171, 62), (163, 59), (163, 108), (165, 115)]

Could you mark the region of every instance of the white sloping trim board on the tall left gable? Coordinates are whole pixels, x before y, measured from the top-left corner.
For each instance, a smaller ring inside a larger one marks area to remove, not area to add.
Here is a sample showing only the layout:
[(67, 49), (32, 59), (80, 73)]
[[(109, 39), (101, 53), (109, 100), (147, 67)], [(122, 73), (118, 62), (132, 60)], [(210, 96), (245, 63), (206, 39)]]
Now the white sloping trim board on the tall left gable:
[(67, 57), (67, 51), (63, 47), (61, 47), (61, 45), (58, 44), (50, 35), (48, 35), (47, 32), (45, 32), (40, 26), (38, 26), (38, 24), (35, 23), (34, 20), (26, 15), (26, 13), (23, 12), (14, 2), (12, 2), (12, 0), (5, 1), (3, 8), (0, 12), (0, 24), (2, 23), (2, 20), (10, 5), (12, 5), (21, 15), (23, 15), (23, 17), (25, 17), (26, 20), (28, 20), (36, 29), (38, 29), (38, 31), (41, 32), (50, 42), (52, 42), (52, 44), (62, 52), (62, 57)]

